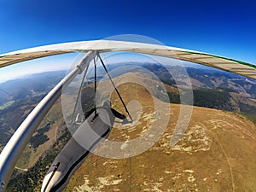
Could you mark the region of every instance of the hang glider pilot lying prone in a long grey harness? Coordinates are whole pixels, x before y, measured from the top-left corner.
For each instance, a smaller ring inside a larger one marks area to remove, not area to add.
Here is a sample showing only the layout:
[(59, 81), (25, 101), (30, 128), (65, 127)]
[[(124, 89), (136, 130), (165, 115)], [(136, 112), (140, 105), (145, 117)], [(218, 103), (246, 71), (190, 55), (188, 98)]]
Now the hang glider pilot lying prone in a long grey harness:
[(49, 167), (41, 192), (62, 191), (90, 152), (108, 137), (115, 118), (123, 119), (124, 124), (128, 122), (124, 114), (111, 108), (109, 101), (104, 101), (102, 107), (90, 110), (83, 124), (79, 125)]

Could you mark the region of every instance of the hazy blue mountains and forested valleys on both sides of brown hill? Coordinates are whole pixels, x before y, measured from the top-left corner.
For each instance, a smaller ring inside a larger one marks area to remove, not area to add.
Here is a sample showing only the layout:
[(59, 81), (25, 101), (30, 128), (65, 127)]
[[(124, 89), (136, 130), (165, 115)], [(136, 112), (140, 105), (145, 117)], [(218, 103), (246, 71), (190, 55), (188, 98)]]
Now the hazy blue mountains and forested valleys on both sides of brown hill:
[[(124, 73), (144, 73), (147, 69), (169, 86), (168, 94), (173, 103), (180, 102), (177, 84), (184, 90), (189, 87), (188, 79), (183, 74), (183, 67), (179, 66), (123, 62), (107, 67), (113, 78)], [(256, 119), (255, 80), (211, 67), (199, 68), (189, 65), (186, 71), (192, 83), (195, 106), (245, 113), (252, 119)], [(94, 80), (93, 68), (89, 72), (88, 81), (85, 81), (85, 84), (92, 83)], [(176, 79), (170, 72), (176, 75)], [(0, 130), (4, 133), (1, 134), (0, 143), (5, 143), (9, 139), (6, 134), (10, 136), (12, 132), (10, 130), (15, 131), (32, 108), (65, 74), (66, 71), (36, 73), (0, 84)], [(101, 66), (97, 67), (97, 75), (97, 80), (108, 79)], [(14, 121), (13, 118), (16, 120)]]

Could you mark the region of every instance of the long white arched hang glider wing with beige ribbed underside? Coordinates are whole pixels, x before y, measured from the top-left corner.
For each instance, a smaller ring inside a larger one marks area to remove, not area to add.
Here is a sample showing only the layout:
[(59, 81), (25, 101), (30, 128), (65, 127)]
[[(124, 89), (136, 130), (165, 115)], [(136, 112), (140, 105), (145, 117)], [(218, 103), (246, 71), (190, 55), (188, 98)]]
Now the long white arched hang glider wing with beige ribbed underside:
[(6, 67), (21, 61), (28, 61), (49, 55), (60, 55), (71, 52), (96, 50), (99, 53), (108, 51), (131, 51), (148, 55), (160, 55), (182, 61), (191, 61), (256, 79), (256, 66), (218, 55), (210, 55), (187, 49), (178, 49), (157, 44), (143, 44), (125, 41), (96, 40), (65, 44), (52, 44), (31, 49), (23, 49), (0, 55), (0, 67)]

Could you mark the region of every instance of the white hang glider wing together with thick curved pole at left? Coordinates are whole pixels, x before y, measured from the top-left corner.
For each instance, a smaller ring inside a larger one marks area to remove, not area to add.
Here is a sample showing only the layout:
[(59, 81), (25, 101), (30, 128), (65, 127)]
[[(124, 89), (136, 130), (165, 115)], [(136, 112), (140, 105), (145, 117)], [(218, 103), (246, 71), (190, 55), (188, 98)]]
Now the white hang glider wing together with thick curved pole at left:
[(182, 61), (191, 61), (201, 65), (215, 67), (231, 73), (241, 74), (251, 79), (256, 79), (256, 67), (252, 64), (231, 60), (218, 55), (210, 55), (187, 49), (178, 49), (156, 44), (142, 44), (125, 41), (85, 41), (66, 44), (53, 44), (31, 49), (23, 49), (8, 54), (0, 55), (0, 67), (7, 67), (22, 61), (29, 61), (49, 55), (60, 55), (72, 52), (86, 52), (79, 65), (68, 73), (68, 75), (50, 90), (49, 94), (38, 104), (36, 108), (27, 116), (9, 143), (3, 148), (0, 158), (0, 191), (4, 191), (6, 183), (15, 168), (15, 163), (20, 157), (21, 152), (29, 142), (32, 133), (36, 130), (39, 123), (48, 113), (49, 108), (61, 96), (61, 90), (66, 88), (84, 68), (90, 64), (97, 54), (109, 51), (131, 51), (148, 55), (159, 55), (174, 58)]

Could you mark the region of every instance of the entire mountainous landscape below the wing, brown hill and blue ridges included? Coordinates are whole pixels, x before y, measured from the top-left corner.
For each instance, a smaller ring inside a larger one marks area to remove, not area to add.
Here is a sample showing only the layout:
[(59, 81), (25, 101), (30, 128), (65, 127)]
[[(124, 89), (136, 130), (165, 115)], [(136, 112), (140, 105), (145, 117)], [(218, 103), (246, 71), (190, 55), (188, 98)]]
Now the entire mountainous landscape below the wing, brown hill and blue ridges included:
[[(134, 63), (128, 63), (125, 67), (129, 65)], [(138, 84), (121, 84), (118, 87), (126, 104), (130, 101), (138, 101), (143, 110), (140, 113), (136, 110), (132, 113), (137, 121), (135, 124), (125, 125), (126, 129), (120, 129), (119, 124), (114, 125), (109, 139), (125, 142), (140, 137), (156, 119), (153, 100), (157, 101), (163, 110), (166, 105), (170, 105), (172, 109), (171, 112), (166, 111), (170, 121), (164, 135), (148, 151), (129, 159), (113, 160), (90, 155), (90, 158), (72, 177), (66, 191), (255, 190), (256, 121), (253, 124), (252, 120), (256, 119), (256, 82), (253, 79), (209, 68), (207, 70), (187, 68), (194, 88), (194, 104), (199, 107), (194, 107), (192, 119), (184, 137), (177, 145), (171, 147), (170, 138), (177, 124), (180, 108), (177, 103), (180, 102), (180, 94), (183, 93), (178, 91), (177, 82), (166, 67), (149, 63), (139, 65), (152, 71), (164, 83), (171, 104), (167, 103), (166, 97), (160, 94), (158, 82), (147, 74), (129, 71), (129, 67), (127, 71), (111, 73), (116, 82), (121, 82), (122, 79), (143, 79), (151, 93), (149, 94), (148, 90)], [(114, 67), (114, 65), (108, 66), (108, 70), (111, 71)], [(173, 66), (168, 69), (177, 74), (181, 70)], [(105, 86), (108, 89), (110, 83), (105, 77), (103, 78), (104, 73), (101, 70), (99, 68), (99, 78), (102, 79), (100, 84), (104, 87), (104, 84), (108, 83)], [(4, 135), (0, 138), (0, 151), (7, 142), (7, 138), (20, 124), (19, 122), (25, 119), (32, 108), (64, 74), (64, 72), (52, 73), (52, 77), (48, 77), (50, 80), (38, 79), (30, 88), (27, 88), (28, 84), (25, 83), (24, 86), (18, 86), (20, 79), (6, 82), (14, 84), (13, 90), (7, 85), (0, 84), (2, 94), (6, 92), (0, 104), (0, 131), (3, 132), (1, 136)], [(46, 73), (43, 76), (45, 75)], [(34, 78), (28, 77), (26, 81), (32, 81)], [(187, 79), (182, 79), (181, 76), (178, 80), (181, 81), (179, 84), (182, 84), (183, 90), (188, 89)], [(37, 82), (39, 82), (38, 85)], [(84, 110), (94, 106), (93, 84), (88, 84), (92, 83), (93, 79), (89, 77), (86, 82), (82, 91), (82, 98), (85, 98), (82, 100)], [(18, 90), (23, 93), (22, 96), (18, 94)], [(111, 100), (113, 108), (125, 113), (114, 92)], [(15, 121), (14, 113), (17, 114)], [(61, 102), (58, 101), (26, 147), (16, 166), (13, 180), (9, 183), (8, 191), (15, 191), (15, 189), (38, 191), (50, 163), (67, 143), (69, 137), (61, 113)], [(123, 152), (120, 151), (120, 153)]]

